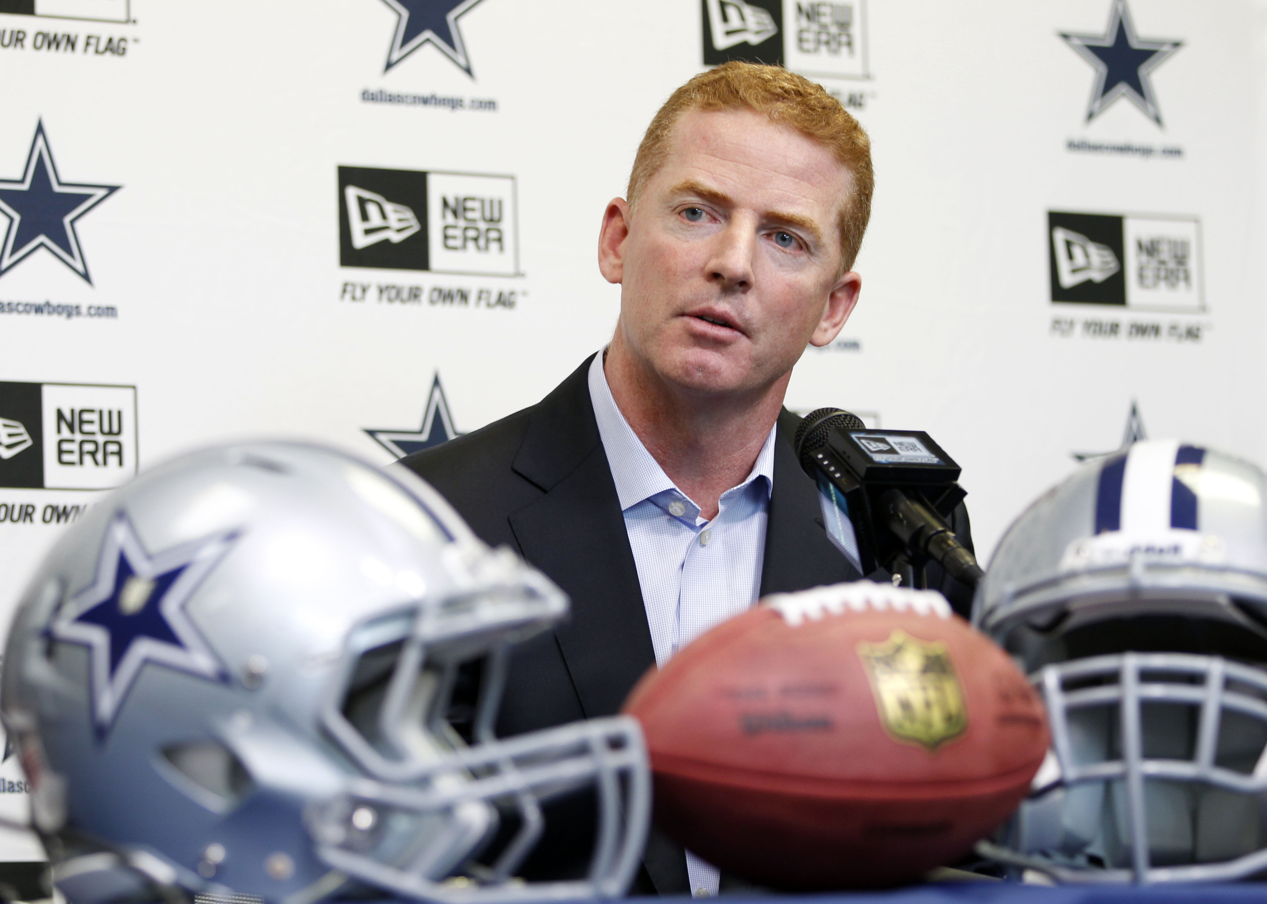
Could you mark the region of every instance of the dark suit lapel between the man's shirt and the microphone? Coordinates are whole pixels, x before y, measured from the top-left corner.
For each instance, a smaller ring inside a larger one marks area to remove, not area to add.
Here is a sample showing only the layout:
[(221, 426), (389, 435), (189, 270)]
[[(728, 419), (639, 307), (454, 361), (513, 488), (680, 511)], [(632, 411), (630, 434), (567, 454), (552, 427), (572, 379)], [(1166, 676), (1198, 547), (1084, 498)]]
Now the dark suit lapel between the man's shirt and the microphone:
[(774, 438), (774, 493), (765, 525), (761, 596), (862, 577), (822, 527), (818, 487), (801, 468), (792, 448), (799, 422), (784, 409)]

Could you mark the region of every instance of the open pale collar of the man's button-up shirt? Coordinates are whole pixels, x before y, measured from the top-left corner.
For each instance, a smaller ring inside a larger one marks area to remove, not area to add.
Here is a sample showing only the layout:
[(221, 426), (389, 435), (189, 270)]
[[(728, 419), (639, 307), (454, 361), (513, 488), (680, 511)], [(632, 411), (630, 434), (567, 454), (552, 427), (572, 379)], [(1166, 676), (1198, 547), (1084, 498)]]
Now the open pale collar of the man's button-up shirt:
[[(616, 495), (621, 500), (621, 510), (625, 512), (632, 505), (637, 505), (645, 499), (673, 490), (688, 496), (679, 490), (669, 475), (664, 472), (660, 463), (646, 451), (646, 446), (637, 438), (634, 428), (630, 427), (621, 409), (612, 396), (612, 389), (607, 385), (607, 374), (603, 371), (604, 348), (594, 356), (589, 365), (589, 399), (594, 405), (594, 419), (598, 422), (598, 436), (603, 441), (603, 449), (607, 452), (607, 463), (612, 470), (612, 480), (616, 481)], [(736, 487), (722, 494), (725, 499), (730, 494), (742, 490), (758, 477), (765, 477), (765, 498), (769, 499), (774, 486), (774, 432), (765, 437), (756, 462), (748, 477)]]

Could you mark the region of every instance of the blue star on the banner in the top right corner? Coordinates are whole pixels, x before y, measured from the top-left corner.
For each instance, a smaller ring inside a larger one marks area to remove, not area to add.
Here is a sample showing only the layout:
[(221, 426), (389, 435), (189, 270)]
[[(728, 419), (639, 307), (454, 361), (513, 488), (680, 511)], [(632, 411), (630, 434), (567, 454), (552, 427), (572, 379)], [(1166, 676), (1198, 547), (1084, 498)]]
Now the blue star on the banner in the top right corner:
[(1126, 97), (1158, 125), (1162, 111), (1153, 95), (1149, 75), (1175, 51), (1181, 41), (1144, 41), (1135, 37), (1126, 0), (1114, 0), (1109, 28), (1100, 34), (1060, 34), (1069, 47), (1096, 68), (1087, 122), (1098, 116), (1119, 97)]

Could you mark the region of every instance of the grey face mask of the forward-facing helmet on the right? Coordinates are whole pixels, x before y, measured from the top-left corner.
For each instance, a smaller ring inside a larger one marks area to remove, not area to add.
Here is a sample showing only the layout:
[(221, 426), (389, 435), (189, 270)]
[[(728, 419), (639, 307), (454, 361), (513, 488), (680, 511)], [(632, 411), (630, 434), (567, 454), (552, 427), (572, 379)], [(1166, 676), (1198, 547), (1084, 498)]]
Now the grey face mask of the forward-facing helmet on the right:
[(1039, 856), (1012, 862), (1067, 881), (1235, 879), (1267, 867), (1267, 672), (1128, 652), (1040, 675), (1053, 750), (1006, 839)]

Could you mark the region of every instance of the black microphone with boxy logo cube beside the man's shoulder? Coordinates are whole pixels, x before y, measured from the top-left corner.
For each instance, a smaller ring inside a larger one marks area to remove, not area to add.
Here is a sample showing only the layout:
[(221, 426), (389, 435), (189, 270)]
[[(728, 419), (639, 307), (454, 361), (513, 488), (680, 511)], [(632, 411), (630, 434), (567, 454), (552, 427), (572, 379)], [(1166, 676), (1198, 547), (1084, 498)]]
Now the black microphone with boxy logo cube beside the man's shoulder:
[(968, 495), (957, 482), (960, 468), (927, 433), (868, 430), (855, 414), (820, 408), (801, 422), (793, 447), (818, 491), (849, 518), (864, 575), (883, 566), (924, 586), (924, 566), (934, 561), (976, 589), (986, 572), (946, 523)]

